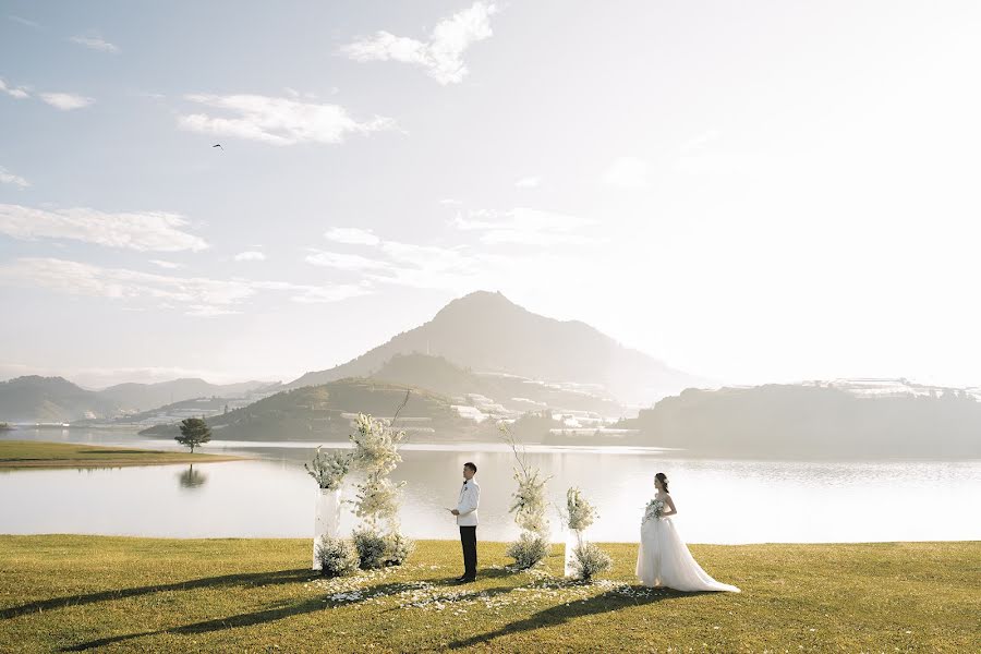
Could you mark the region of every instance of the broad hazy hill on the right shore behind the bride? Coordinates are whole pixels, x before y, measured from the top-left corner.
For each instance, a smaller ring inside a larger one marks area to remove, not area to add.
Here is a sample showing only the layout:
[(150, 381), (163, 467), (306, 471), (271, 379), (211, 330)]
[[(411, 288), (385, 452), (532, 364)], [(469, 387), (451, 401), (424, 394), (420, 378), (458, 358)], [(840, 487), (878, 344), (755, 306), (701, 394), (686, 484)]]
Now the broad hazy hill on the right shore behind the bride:
[(860, 396), (834, 386), (767, 385), (683, 391), (618, 426), (645, 445), (711, 457), (981, 458), (981, 402), (942, 396)]

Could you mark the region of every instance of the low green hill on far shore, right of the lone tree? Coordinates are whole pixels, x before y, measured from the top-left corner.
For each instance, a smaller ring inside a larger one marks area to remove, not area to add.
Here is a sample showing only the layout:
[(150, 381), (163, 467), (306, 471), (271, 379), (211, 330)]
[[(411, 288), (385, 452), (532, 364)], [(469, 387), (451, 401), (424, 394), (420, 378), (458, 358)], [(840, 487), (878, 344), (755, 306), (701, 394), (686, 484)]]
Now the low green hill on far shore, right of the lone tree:
[[(346, 440), (352, 415), (392, 417), (405, 388), (371, 379), (339, 379), (282, 391), (223, 415), (207, 417), (213, 438), (223, 440)], [(474, 439), (496, 434), (488, 424), (463, 419), (447, 398), (413, 390), (396, 425), (419, 440)], [(175, 435), (177, 424), (143, 435)]]

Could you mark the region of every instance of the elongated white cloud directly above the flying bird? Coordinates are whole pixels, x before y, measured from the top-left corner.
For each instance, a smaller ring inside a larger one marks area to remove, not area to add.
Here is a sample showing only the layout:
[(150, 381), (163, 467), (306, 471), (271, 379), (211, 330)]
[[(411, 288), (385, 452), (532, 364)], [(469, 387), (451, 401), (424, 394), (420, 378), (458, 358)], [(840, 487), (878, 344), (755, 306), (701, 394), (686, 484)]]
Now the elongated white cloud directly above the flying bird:
[(348, 134), (368, 134), (395, 129), (390, 118), (376, 116), (359, 122), (338, 105), (316, 105), (258, 95), (189, 95), (185, 98), (231, 117), (208, 113), (181, 116), (179, 125), (192, 132), (235, 136), (268, 143), (341, 143)]

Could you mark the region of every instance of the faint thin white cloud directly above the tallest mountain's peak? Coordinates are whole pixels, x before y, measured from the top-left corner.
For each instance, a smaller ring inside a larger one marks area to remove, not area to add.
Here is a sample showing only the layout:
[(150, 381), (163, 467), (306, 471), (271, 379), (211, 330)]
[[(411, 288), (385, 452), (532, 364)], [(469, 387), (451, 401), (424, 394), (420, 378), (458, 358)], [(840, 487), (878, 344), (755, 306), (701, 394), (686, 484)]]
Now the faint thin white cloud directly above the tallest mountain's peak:
[(517, 207), (509, 211), (471, 211), (468, 218), (458, 215), (451, 225), (463, 231), (481, 231), (481, 242), (519, 245), (558, 245), (593, 243), (595, 238), (573, 233), (595, 225), (595, 220)]

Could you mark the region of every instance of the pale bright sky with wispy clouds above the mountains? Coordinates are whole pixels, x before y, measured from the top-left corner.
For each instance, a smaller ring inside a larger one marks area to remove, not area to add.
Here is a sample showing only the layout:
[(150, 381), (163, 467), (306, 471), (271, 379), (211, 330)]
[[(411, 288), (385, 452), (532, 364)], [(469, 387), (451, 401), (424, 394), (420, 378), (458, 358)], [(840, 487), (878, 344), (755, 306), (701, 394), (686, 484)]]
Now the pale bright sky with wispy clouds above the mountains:
[(290, 380), (491, 290), (723, 383), (981, 385), (979, 33), (972, 1), (2, 1), (0, 378)]

